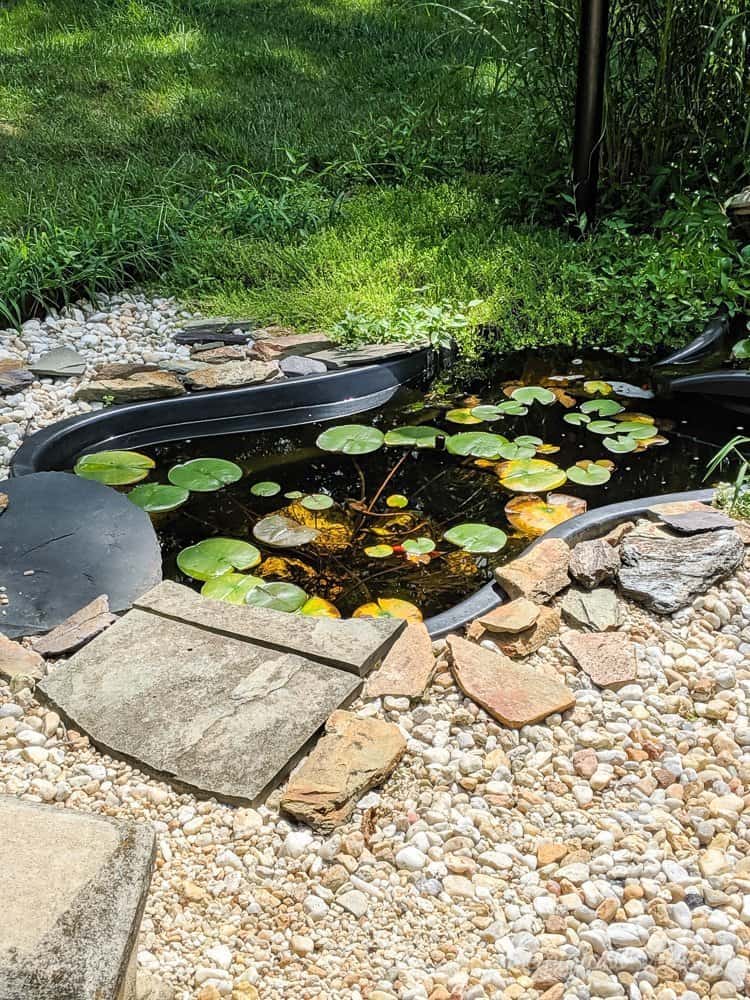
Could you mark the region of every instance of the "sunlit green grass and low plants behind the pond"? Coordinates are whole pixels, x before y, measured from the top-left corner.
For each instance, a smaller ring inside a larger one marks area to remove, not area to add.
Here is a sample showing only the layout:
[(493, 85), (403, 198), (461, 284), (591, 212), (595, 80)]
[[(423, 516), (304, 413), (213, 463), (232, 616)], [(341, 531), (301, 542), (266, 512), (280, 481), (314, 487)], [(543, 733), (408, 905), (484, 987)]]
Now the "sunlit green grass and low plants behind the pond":
[(481, 299), (498, 346), (631, 347), (736, 304), (716, 213), (535, 228), (565, 165), (519, 150), (453, 24), (400, 0), (5, 5), (0, 310), (136, 282), (312, 328)]

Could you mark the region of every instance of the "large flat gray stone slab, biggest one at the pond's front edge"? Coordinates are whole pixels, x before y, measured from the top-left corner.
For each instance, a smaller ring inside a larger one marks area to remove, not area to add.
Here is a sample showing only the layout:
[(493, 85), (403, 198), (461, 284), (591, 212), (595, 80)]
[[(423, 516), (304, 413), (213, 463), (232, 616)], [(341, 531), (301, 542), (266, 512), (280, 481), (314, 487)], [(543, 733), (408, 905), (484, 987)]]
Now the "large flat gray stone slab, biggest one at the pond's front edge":
[(108, 753), (254, 805), (360, 687), (307, 657), (135, 610), (37, 690)]

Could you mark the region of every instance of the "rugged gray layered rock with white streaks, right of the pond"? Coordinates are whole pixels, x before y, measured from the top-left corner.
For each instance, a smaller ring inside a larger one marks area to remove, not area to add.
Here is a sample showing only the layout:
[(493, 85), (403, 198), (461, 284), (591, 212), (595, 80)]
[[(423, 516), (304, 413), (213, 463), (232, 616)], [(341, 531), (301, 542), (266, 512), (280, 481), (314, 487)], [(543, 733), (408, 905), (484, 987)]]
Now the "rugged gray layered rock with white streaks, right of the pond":
[(657, 525), (644, 525), (623, 539), (617, 580), (626, 597), (668, 615), (725, 580), (744, 555), (745, 545), (734, 530), (675, 536)]

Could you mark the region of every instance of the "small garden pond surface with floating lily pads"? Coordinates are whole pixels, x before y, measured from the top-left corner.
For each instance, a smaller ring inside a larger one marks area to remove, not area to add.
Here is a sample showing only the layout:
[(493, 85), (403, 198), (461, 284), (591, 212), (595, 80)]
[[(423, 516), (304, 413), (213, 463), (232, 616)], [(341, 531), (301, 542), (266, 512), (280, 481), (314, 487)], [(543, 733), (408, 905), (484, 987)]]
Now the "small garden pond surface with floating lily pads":
[(561, 521), (695, 489), (737, 431), (594, 352), (506, 356), (325, 424), (82, 456), (153, 517), (164, 575), (309, 615), (428, 618)]

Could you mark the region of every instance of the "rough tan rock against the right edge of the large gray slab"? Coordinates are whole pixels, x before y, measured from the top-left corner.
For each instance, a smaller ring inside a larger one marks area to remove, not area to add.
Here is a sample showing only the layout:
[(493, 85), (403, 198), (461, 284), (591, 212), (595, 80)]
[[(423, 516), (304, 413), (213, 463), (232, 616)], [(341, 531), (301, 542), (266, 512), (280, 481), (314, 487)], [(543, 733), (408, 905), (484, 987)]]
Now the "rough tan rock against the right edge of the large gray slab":
[(349, 818), (368, 789), (383, 783), (405, 750), (398, 726), (334, 712), (325, 735), (290, 779), (281, 808), (329, 833)]

